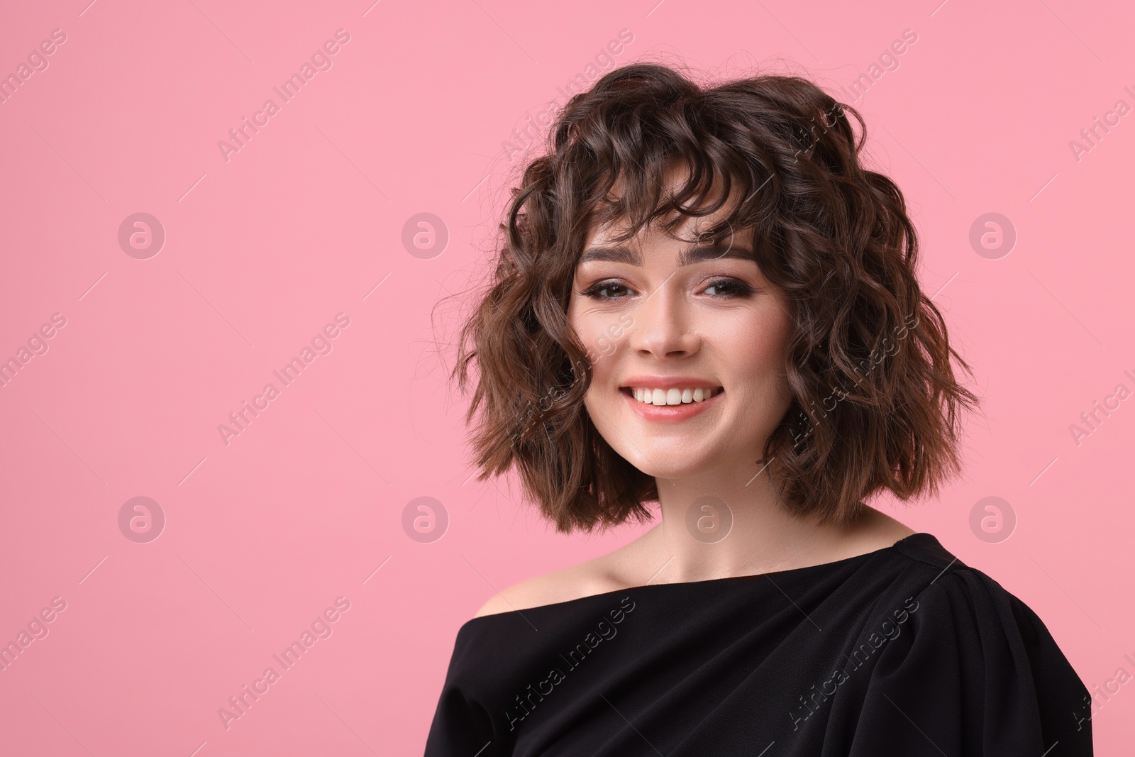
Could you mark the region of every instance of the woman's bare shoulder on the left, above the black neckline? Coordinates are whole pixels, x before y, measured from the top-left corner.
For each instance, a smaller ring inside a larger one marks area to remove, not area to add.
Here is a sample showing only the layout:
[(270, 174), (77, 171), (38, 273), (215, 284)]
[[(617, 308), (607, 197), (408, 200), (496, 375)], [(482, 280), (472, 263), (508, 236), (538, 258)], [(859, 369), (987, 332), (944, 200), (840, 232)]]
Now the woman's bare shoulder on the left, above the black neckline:
[(630, 546), (511, 586), (493, 595), (473, 617), (569, 602), (633, 586), (624, 569)]

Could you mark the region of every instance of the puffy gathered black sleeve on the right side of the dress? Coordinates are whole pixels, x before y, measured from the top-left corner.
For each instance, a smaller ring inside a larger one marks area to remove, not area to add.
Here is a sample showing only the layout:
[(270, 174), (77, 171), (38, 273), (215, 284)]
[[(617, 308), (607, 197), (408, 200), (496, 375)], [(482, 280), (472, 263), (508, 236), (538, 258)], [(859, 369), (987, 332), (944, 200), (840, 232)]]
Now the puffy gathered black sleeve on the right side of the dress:
[(882, 648), (851, 757), (1092, 755), (1087, 689), (1040, 617), (984, 573), (948, 571), (865, 632)]

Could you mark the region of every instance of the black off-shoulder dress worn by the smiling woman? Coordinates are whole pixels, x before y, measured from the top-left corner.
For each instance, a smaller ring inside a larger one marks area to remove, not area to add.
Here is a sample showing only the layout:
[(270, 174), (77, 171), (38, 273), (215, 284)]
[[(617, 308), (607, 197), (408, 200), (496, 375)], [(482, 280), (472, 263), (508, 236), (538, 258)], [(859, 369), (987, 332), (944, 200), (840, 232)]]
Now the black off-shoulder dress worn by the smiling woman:
[(1087, 689), (928, 533), (834, 563), (474, 617), (427, 757), (1070, 757)]

